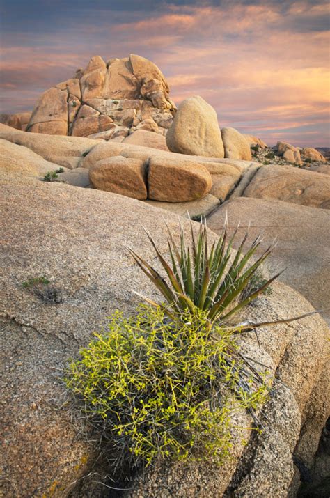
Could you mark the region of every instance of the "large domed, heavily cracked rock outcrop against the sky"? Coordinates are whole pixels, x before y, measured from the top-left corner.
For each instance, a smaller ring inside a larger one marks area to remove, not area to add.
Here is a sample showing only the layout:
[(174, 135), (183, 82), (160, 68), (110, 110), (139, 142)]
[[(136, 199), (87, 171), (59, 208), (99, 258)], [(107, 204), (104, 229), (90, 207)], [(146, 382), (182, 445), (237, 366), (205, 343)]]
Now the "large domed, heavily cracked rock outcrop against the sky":
[(107, 140), (135, 130), (164, 135), (173, 111), (168, 84), (154, 63), (134, 54), (107, 63), (94, 56), (74, 78), (40, 95), (26, 130)]

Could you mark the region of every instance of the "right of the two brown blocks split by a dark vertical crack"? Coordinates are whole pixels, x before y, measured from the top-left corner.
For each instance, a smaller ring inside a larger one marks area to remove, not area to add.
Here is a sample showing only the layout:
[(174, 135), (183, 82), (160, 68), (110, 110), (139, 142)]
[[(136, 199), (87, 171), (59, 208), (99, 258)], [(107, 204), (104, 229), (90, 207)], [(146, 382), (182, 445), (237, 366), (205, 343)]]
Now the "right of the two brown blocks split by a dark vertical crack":
[(148, 164), (148, 197), (154, 201), (195, 201), (212, 187), (212, 178), (201, 164), (182, 161), (179, 164), (151, 157)]

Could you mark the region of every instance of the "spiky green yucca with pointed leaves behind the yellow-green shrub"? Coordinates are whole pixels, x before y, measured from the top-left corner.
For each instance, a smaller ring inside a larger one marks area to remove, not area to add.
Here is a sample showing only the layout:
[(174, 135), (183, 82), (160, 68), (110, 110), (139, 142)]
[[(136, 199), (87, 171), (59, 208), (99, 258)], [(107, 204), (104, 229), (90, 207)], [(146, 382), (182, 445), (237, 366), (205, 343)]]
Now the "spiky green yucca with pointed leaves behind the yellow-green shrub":
[[(167, 225), (166, 225), (167, 226)], [(157, 258), (164, 268), (168, 281), (150, 266), (146, 260), (141, 258), (133, 249), (129, 249), (134, 260), (141, 270), (155, 284), (162, 293), (168, 308), (176, 313), (181, 313), (194, 307), (206, 311), (210, 322), (217, 320), (222, 323), (228, 322), (230, 316), (237, 313), (246, 304), (249, 304), (260, 293), (262, 293), (278, 275), (262, 282), (262, 285), (247, 293), (244, 299), (237, 302), (239, 295), (249, 288), (249, 282), (256, 274), (260, 265), (272, 252), (270, 245), (261, 256), (252, 260), (262, 239), (258, 236), (252, 244), (244, 251), (248, 232), (245, 233), (235, 256), (233, 255), (233, 242), (237, 235), (236, 228), (233, 235), (228, 237), (228, 223), (223, 225), (223, 230), (217, 242), (213, 242), (209, 250), (207, 242), (206, 224), (201, 223), (197, 237), (191, 223), (191, 246), (184, 238), (182, 224), (180, 224), (180, 246), (173, 239), (173, 234), (168, 229), (168, 251), (171, 257), (169, 265), (159, 251), (155, 240), (148, 231), (146, 234), (154, 247)], [(159, 304), (150, 301), (150, 304)]]

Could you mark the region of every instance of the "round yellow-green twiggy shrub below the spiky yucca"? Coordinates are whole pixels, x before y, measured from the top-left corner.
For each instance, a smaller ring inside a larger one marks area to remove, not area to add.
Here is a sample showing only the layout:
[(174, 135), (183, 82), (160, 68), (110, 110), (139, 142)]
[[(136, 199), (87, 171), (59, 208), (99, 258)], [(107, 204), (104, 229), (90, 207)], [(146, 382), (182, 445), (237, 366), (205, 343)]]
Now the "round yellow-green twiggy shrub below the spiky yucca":
[(160, 306), (141, 306), (130, 318), (117, 311), (95, 334), (65, 382), (113, 442), (117, 465), (228, 456), (233, 411), (255, 410), (267, 394), (235, 332), (197, 307), (170, 319)]

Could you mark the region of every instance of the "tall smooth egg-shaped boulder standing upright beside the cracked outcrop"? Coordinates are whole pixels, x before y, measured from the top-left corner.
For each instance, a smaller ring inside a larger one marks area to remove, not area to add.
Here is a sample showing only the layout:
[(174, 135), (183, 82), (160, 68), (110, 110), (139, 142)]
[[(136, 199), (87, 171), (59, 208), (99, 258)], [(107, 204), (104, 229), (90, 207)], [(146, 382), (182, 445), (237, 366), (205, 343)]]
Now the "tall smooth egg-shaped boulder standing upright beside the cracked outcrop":
[(217, 113), (201, 97), (184, 100), (166, 134), (172, 152), (224, 157)]

